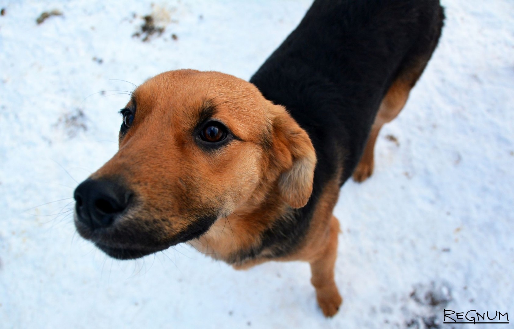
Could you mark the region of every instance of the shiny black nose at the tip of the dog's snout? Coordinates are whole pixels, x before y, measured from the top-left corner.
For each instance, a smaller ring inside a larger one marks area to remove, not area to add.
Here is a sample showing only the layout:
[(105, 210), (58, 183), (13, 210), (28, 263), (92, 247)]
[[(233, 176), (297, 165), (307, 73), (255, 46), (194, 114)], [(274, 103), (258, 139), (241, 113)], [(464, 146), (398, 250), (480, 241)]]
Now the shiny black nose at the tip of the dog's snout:
[(116, 182), (87, 179), (75, 189), (77, 218), (93, 229), (110, 226), (128, 206), (131, 195)]

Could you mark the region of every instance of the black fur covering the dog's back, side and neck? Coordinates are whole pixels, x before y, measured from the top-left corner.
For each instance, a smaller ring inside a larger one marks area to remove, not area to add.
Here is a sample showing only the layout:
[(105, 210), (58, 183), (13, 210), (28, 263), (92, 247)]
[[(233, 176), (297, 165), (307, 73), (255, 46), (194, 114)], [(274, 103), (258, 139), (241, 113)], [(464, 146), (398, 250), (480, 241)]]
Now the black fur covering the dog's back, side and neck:
[[(352, 175), (392, 82), (411, 72), (414, 85), (423, 72), (443, 20), (438, 0), (314, 2), (250, 79), (309, 134), (318, 158), (313, 194), (305, 207), (291, 210), (264, 232), (259, 250), (234, 260), (264, 249), (271, 250), (270, 258), (295, 250), (325, 184), (339, 179), (342, 185)], [(341, 166), (342, 175), (335, 178)]]

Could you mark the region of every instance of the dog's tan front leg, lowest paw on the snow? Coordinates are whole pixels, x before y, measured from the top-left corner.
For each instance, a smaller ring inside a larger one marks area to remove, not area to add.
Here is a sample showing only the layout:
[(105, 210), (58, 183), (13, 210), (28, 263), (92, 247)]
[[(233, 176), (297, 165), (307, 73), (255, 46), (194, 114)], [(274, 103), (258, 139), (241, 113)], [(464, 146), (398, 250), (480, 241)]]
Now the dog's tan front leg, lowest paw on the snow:
[(314, 260), (310, 261), (312, 278), (310, 282), (316, 288), (316, 298), (321, 311), (326, 317), (334, 316), (339, 311), (343, 299), (339, 295), (334, 281), (334, 266), (337, 258), (337, 236), (339, 221), (332, 216), (330, 231), (324, 250)]

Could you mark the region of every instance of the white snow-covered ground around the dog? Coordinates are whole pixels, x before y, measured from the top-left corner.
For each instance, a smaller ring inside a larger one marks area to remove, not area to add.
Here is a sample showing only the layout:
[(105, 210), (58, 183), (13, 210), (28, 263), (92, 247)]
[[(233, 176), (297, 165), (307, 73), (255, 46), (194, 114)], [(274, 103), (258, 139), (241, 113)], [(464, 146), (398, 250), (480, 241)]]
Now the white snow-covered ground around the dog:
[[(1, 328), (457, 327), (443, 308), (514, 321), (511, 0), (444, 1), (443, 37), (381, 132), (374, 176), (341, 190), (335, 318), (304, 263), (237, 272), (183, 245), (116, 261), (75, 234), (70, 197), (116, 152), (125, 81), (249, 79), (309, 5), (0, 1)], [(164, 32), (133, 37), (152, 13)]]

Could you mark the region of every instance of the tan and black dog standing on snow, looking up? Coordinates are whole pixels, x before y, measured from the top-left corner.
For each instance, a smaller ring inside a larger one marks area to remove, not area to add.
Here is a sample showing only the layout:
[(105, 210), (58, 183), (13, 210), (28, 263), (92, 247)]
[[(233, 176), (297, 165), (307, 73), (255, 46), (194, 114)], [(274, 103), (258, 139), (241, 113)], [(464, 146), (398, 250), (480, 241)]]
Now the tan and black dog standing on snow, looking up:
[(438, 0), (316, 0), (249, 82), (151, 78), (120, 111), (118, 152), (74, 192), (79, 234), (118, 259), (188, 242), (236, 269), (306, 261), (334, 316), (339, 189), (371, 176), (443, 21)]

